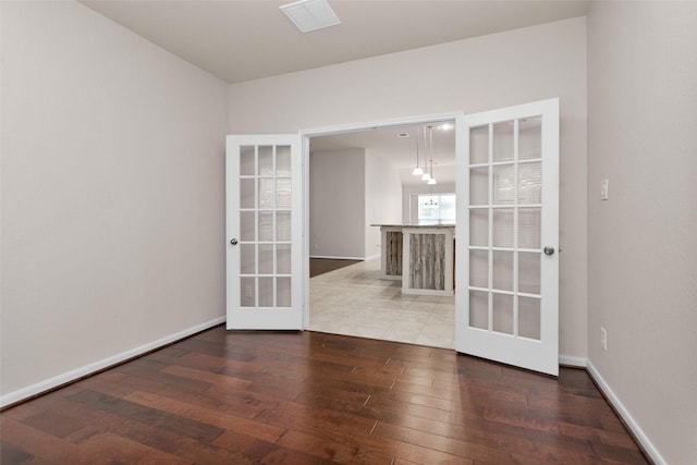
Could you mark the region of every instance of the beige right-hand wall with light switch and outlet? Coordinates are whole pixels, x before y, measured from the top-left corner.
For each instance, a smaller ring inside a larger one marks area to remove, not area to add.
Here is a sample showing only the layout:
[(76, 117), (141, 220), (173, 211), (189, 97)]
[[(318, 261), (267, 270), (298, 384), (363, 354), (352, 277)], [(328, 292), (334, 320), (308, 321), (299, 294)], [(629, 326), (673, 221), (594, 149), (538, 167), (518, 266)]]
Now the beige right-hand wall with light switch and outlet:
[(591, 367), (657, 462), (694, 464), (697, 2), (591, 3), (588, 121)]

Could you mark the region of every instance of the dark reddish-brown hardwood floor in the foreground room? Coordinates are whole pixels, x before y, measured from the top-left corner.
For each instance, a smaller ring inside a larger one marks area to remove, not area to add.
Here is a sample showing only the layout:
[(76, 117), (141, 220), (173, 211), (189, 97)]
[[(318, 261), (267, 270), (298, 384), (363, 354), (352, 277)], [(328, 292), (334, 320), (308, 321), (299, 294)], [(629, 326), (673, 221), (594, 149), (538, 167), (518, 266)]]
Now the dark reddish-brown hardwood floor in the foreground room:
[(644, 464), (588, 375), (213, 328), (0, 413), (9, 464)]

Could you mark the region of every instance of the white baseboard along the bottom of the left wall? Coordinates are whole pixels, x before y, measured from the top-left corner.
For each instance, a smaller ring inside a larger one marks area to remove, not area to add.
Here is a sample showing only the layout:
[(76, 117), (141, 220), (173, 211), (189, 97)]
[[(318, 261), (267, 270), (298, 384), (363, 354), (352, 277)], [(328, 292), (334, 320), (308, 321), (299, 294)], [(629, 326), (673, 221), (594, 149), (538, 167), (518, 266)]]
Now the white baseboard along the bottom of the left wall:
[(63, 384), (68, 384), (72, 381), (78, 380), (81, 378), (85, 378), (89, 375), (101, 371), (106, 368), (112, 367), (127, 359), (137, 357), (138, 355), (143, 355), (156, 348), (162, 347), (164, 345), (168, 345), (179, 340), (182, 340), (184, 338), (187, 338), (192, 334), (196, 334), (197, 332), (218, 326), (224, 321), (225, 321), (225, 317), (216, 318), (215, 320), (210, 320), (205, 323), (197, 325), (195, 327), (185, 329), (184, 331), (175, 332), (174, 334), (167, 335), (162, 339), (158, 339), (157, 341), (152, 341), (147, 344), (140, 345), (139, 347), (135, 347), (130, 351), (125, 351), (120, 354), (117, 354), (114, 356), (101, 359), (99, 362), (95, 362), (94, 364), (89, 364), (84, 367), (68, 371), (63, 375), (59, 375), (57, 377), (47, 379), (46, 381), (37, 382), (36, 384), (29, 386), (27, 388), (23, 388), (17, 391), (10, 392), (9, 394), (0, 395), (0, 408), (4, 408), (8, 405), (16, 404), (17, 402), (22, 402), (30, 397), (35, 397), (39, 394), (42, 394), (47, 391), (59, 388)]

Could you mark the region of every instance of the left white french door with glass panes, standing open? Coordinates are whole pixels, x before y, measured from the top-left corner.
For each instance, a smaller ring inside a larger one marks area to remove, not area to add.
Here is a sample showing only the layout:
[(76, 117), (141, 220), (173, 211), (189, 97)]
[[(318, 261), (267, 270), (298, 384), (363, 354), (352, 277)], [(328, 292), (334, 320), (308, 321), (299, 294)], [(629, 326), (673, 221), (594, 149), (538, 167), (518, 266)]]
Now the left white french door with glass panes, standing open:
[(228, 329), (303, 329), (302, 143), (227, 138)]

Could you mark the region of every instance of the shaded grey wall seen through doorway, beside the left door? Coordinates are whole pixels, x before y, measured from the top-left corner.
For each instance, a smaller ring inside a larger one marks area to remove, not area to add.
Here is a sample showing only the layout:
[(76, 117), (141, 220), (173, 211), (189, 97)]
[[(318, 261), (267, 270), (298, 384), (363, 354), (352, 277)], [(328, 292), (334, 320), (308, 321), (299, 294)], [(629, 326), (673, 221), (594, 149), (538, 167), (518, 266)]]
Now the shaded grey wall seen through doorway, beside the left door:
[(363, 149), (310, 155), (310, 257), (364, 258), (365, 172)]

